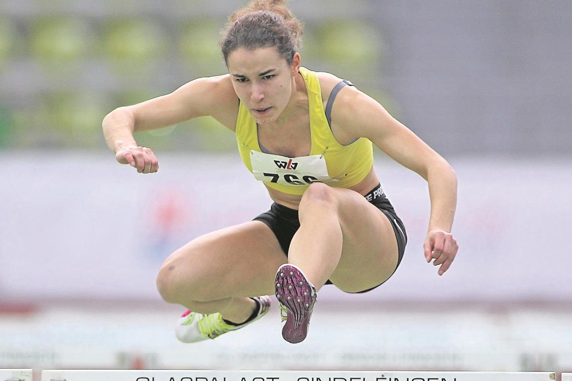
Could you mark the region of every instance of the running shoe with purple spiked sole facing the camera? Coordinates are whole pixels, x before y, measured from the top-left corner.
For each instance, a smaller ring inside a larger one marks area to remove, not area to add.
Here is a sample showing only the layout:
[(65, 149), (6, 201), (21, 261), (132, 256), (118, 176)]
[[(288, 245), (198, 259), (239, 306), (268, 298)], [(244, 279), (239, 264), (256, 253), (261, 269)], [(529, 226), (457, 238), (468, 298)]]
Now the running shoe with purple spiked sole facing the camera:
[(299, 343), (308, 335), (312, 310), (316, 303), (316, 287), (302, 270), (293, 264), (278, 268), (275, 282), (280, 315), (285, 323), (282, 337), (290, 343)]

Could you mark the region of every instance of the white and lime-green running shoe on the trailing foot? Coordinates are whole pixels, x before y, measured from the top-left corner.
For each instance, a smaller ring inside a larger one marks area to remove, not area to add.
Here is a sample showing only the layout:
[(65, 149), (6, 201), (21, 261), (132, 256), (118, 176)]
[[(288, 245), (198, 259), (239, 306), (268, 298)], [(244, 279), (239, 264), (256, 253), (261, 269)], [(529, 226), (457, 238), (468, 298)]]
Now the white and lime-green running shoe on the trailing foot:
[(177, 320), (177, 325), (175, 326), (177, 339), (184, 343), (195, 343), (202, 340), (215, 339), (227, 332), (240, 330), (240, 328), (246, 327), (248, 324), (268, 314), (268, 311), (270, 311), (270, 297), (268, 295), (256, 296), (251, 299), (258, 303), (258, 313), (255, 318), (239, 326), (226, 323), (223, 320), (223, 315), (219, 312), (199, 314), (198, 312), (186, 310), (185, 313), (181, 315), (181, 318)]

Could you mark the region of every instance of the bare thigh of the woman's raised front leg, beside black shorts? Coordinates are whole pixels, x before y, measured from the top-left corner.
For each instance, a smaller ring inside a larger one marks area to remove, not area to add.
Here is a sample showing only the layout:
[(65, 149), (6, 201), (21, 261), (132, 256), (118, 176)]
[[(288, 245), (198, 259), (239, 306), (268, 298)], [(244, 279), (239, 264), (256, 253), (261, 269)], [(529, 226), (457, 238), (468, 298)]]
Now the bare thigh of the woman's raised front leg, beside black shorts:
[(359, 193), (333, 190), (343, 246), (340, 262), (329, 279), (348, 292), (378, 286), (393, 274), (398, 263), (398, 244), (390, 220)]

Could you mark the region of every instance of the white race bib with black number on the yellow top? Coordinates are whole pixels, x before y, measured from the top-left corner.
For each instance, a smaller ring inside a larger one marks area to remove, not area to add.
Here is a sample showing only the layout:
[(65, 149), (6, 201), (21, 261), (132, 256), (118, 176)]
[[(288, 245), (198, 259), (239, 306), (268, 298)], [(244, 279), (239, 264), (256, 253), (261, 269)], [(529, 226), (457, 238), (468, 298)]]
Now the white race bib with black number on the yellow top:
[(292, 186), (338, 181), (328, 176), (323, 155), (287, 158), (251, 150), (252, 174), (257, 180)]

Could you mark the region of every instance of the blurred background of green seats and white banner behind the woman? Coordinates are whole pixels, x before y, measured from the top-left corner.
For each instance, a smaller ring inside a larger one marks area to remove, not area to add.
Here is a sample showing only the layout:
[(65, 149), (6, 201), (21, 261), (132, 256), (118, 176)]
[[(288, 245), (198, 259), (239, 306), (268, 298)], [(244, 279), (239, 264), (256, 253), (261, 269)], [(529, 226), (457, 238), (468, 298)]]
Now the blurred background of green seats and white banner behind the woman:
[(303, 65), (355, 83), (454, 167), (458, 258), (442, 277), (424, 263), (426, 182), (378, 151), (410, 238), (391, 280), (324, 288), (296, 346), (277, 311), (176, 341), (162, 260), (271, 200), (214, 119), (138, 134), (153, 175), (117, 165), (101, 121), (224, 74), (219, 31), (246, 3), (0, 0), (0, 368), (572, 370), (564, 0), (291, 0)]

